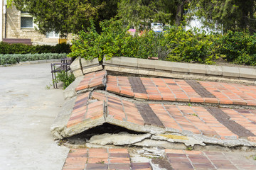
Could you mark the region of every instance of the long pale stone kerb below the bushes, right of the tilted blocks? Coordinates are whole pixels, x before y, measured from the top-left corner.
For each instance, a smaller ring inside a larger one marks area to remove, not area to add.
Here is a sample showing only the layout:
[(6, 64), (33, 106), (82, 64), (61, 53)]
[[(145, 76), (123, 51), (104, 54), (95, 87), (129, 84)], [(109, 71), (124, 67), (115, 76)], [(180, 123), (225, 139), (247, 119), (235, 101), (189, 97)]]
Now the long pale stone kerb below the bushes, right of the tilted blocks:
[[(153, 71), (153, 73), (168, 72), (171, 74), (196, 74), (207, 77), (245, 79), (249, 81), (255, 81), (256, 79), (256, 69), (146, 60), (132, 57), (112, 57), (111, 60), (104, 60), (103, 66), (105, 66), (105, 69), (106, 67), (118, 68), (113, 71), (119, 72), (125, 72), (126, 69), (131, 69), (133, 70), (132, 72), (131, 70), (127, 72), (133, 74), (143, 74), (143, 72), (144, 74), (150, 74), (150, 72)], [(158, 74), (153, 74), (152, 76), (158, 76)]]

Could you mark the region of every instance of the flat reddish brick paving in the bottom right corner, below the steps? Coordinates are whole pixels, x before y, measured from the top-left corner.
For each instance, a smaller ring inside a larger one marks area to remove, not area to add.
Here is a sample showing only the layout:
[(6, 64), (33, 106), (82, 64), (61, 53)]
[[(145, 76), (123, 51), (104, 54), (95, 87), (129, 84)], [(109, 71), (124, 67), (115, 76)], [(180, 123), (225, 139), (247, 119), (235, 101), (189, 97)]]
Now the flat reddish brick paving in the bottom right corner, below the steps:
[(174, 169), (255, 169), (256, 165), (239, 154), (165, 149)]

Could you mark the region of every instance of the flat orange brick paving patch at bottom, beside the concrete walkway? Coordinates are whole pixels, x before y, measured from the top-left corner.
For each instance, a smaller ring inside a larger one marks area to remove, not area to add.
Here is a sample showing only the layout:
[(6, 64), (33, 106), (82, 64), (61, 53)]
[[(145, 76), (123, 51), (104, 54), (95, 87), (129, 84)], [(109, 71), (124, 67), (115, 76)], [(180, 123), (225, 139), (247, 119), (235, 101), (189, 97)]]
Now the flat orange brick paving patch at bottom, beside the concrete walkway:
[(70, 169), (151, 169), (149, 163), (131, 163), (127, 149), (70, 149), (63, 170)]

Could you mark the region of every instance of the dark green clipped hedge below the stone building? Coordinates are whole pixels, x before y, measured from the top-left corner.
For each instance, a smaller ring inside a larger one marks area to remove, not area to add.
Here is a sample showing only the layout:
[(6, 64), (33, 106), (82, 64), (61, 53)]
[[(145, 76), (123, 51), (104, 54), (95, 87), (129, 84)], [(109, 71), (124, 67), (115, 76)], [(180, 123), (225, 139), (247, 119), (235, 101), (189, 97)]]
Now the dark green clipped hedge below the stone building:
[(0, 42), (0, 54), (41, 54), (41, 53), (69, 53), (70, 45), (66, 43), (51, 45), (24, 45)]

